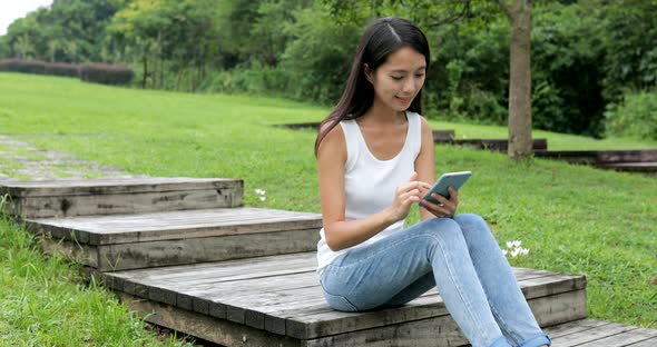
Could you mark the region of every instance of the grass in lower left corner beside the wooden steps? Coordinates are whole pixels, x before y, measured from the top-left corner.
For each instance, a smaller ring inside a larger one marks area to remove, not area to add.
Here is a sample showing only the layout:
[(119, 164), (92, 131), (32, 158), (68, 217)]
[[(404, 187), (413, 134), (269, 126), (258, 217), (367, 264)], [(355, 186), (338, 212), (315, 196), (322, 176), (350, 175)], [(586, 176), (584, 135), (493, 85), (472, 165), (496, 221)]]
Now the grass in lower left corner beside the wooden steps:
[[(0, 201), (0, 206), (3, 201)], [(163, 337), (86, 282), (76, 265), (45, 257), (35, 238), (0, 216), (1, 346), (184, 346)]]

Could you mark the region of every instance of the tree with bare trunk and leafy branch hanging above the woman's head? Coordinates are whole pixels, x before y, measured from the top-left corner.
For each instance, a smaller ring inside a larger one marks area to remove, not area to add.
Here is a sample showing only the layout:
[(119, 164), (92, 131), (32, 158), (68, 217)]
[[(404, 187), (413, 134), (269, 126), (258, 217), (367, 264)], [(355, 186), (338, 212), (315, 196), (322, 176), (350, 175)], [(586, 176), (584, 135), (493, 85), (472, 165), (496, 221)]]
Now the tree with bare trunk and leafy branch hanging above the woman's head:
[(509, 157), (524, 159), (532, 153), (530, 30), (532, 0), (324, 0), (339, 20), (363, 22), (373, 17), (396, 14), (421, 28), (438, 28), (459, 20), (481, 20), (490, 16), (491, 3), (502, 9), (510, 22)]

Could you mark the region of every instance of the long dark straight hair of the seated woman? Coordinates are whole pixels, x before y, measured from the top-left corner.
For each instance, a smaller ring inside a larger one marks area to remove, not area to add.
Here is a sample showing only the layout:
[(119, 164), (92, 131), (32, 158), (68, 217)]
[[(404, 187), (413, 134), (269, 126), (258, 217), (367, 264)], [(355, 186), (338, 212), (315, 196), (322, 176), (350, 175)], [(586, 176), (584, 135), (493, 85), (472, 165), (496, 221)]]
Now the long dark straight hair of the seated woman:
[[(356, 119), (365, 113), (374, 101), (374, 87), (365, 78), (365, 67), (375, 72), (388, 57), (398, 49), (410, 47), (423, 54), (429, 69), (429, 43), (424, 33), (410, 21), (395, 17), (381, 18), (372, 22), (361, 37), (354, 61), (340, 101), (317, 128), (315, 156), (320, 143), (335, 126), (345, 119)], [(413, 112), (422, 112), (422, 90), (409, 106)]]

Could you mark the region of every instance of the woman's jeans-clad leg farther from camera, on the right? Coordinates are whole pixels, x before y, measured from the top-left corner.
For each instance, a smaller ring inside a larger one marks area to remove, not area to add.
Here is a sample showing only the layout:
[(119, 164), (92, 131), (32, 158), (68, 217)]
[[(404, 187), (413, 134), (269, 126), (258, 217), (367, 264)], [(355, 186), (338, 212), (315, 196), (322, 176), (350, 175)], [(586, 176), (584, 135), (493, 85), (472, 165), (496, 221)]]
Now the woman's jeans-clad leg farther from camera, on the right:
[(477, 215), (458, 215), (454, 220), (463, 230), (472, 264), (504, 335), (516, 346), (549, 345), (486, 221)]

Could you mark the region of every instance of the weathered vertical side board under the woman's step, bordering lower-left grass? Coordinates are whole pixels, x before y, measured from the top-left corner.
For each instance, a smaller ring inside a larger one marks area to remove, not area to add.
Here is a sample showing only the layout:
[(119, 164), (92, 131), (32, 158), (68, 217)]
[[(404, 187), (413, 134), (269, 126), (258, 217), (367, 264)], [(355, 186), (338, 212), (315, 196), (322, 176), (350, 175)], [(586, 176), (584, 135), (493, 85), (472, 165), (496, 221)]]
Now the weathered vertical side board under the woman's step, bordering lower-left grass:
[(130, 309), (140, 313), (145, 320), (173, 330), (182, 331), (223, 346), (246, 347), (297, 347), (300, 341), (264, 330), (238, 325), (225, 319), (217, 319), (207, 315), (179, 309), (135, 298), (119, 293), (121, 301)]

